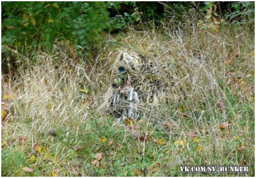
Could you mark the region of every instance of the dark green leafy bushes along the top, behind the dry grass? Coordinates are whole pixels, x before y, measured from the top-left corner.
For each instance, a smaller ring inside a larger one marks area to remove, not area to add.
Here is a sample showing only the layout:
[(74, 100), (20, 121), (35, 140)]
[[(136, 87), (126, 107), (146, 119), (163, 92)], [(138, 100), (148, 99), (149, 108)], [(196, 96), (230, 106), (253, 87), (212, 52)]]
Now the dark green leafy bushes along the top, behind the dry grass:
[[(209, 15), (207, 19), (215, 24), (254, 23), (253, 2), (3, 2), (2, 45), (31, 54), (49, 50), (55, 40), (64, 38), (86, 53), (104, 41), (105, 33), (118, 33), (131, 25), (187, 23), (184, 13), (192, 8), (198, 11), (194, 15)], [(2, 47), (2, 53), (6, 50)]]

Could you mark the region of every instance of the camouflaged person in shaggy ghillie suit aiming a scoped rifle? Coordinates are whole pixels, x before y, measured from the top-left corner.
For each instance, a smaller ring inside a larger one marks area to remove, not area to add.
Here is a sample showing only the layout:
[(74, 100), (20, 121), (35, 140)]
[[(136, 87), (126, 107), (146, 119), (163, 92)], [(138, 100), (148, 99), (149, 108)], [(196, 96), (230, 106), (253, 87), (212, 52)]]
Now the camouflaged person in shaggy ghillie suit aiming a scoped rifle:
[(143, 104), (156, 104), (164, 87), (157, 65), (136, 52), (120, 52), (115, 66), (119, 74), (112, 87), (116, 89), (111, 107), (118, 116), (137, 120)]

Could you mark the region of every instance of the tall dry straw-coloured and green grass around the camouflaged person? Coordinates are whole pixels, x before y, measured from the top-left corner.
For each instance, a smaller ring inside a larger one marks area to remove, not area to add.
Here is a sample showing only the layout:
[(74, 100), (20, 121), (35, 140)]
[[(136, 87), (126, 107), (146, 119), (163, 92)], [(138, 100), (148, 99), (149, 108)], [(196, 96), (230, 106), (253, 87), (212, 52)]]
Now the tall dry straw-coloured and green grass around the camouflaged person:
[[(2, 175), (253, 176), (254, 31), (235, 29), (131, 31), (85, 62), (39, 53), (16, 80), (2, 78)], [(120, 125), (107, 101), (125, 48), (157, 54), (172, 77), (168, 102)], [(249, 173), (184, 174), (180, 165)]]

